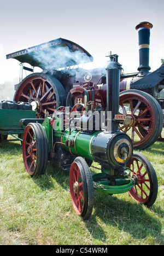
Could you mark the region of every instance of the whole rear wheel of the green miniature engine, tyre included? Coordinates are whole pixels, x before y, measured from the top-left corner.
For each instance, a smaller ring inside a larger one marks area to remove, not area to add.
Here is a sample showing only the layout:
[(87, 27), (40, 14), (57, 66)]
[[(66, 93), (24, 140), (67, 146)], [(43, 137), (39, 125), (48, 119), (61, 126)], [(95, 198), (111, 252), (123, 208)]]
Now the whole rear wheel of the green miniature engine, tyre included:
[(25, 169), (31, 176), (44, 174), (48, 162), (48, 142), (42, 125), (30, 123), (26, 126), (22, 154)]

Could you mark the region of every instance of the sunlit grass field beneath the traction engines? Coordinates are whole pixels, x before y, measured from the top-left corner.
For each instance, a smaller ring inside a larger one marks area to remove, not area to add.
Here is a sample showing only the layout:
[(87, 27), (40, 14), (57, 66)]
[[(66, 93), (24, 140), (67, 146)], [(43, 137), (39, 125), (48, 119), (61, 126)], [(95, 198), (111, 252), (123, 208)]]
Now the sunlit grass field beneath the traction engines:
[[(68, 171), (54, 170), (48, 162), (44, 176), (31, 178), (21, 143), (1, 143), (0, 245), (163, 245), (164, 143), (142, 154), (157, 174), (155, 204), (147, 208), (128, 193), (95, 191), (92, 216), (84, 221), (73, 210)], [(96, 172), (92, 166), (91, 172)]]

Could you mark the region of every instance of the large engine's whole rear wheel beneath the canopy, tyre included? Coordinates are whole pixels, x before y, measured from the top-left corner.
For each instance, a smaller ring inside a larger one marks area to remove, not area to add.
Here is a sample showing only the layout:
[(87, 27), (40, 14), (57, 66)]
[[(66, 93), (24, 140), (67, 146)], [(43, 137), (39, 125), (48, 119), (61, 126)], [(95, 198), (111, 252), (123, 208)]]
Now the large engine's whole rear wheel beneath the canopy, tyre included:
[(30, 102), (36, 110), (37, 118), (45, 117), (45, 110), (49, 114), (66, 101), (66, 92), (62, 84), (54, 77), (43, 73), (28, 75), (18, 86), (14, 101)]

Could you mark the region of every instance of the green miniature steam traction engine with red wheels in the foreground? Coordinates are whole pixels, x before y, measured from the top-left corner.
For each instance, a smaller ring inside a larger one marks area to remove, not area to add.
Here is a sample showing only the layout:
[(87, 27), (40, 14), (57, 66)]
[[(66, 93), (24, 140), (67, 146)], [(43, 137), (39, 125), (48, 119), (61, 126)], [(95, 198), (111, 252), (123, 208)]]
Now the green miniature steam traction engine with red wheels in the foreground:
[[(44, 174), (48, 160), (57, 168), (70, 169), (69, 187), (74, 210), (89, 219), (94, 189), (105, 194), (128, 193), (151, 206), (157, 196), (157, 178), (147, 158), (133, 153), (131, 138), (119, 131), (120, 67), (118, 56), (111, 55), (106, 68), (107, 112), (94, 109), (92, 101), (60, 108), (45, 119), (23, 119), (26, 126), (22, 153), (31, 176)], [(67, 113), (68, 112), (68, 113)], [(103, 118), (104, 117), (104, 118)], [(131, 121), (131, 120), (129, 120)], [(92, 162), (101, 165), (93, 176)]]

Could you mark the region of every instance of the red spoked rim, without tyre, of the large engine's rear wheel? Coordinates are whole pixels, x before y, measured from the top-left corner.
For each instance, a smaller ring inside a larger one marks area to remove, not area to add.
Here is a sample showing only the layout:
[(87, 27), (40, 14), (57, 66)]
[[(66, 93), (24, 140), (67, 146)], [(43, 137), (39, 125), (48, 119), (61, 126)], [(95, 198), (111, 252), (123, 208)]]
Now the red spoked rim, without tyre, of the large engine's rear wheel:
[(45, 109), (49, 114), (56, 109), (56, 92), (48, 79), (41, 75), (27, 78), (17, 89), (16, 102), (36, 102), (37, 118), (45, 117)]

